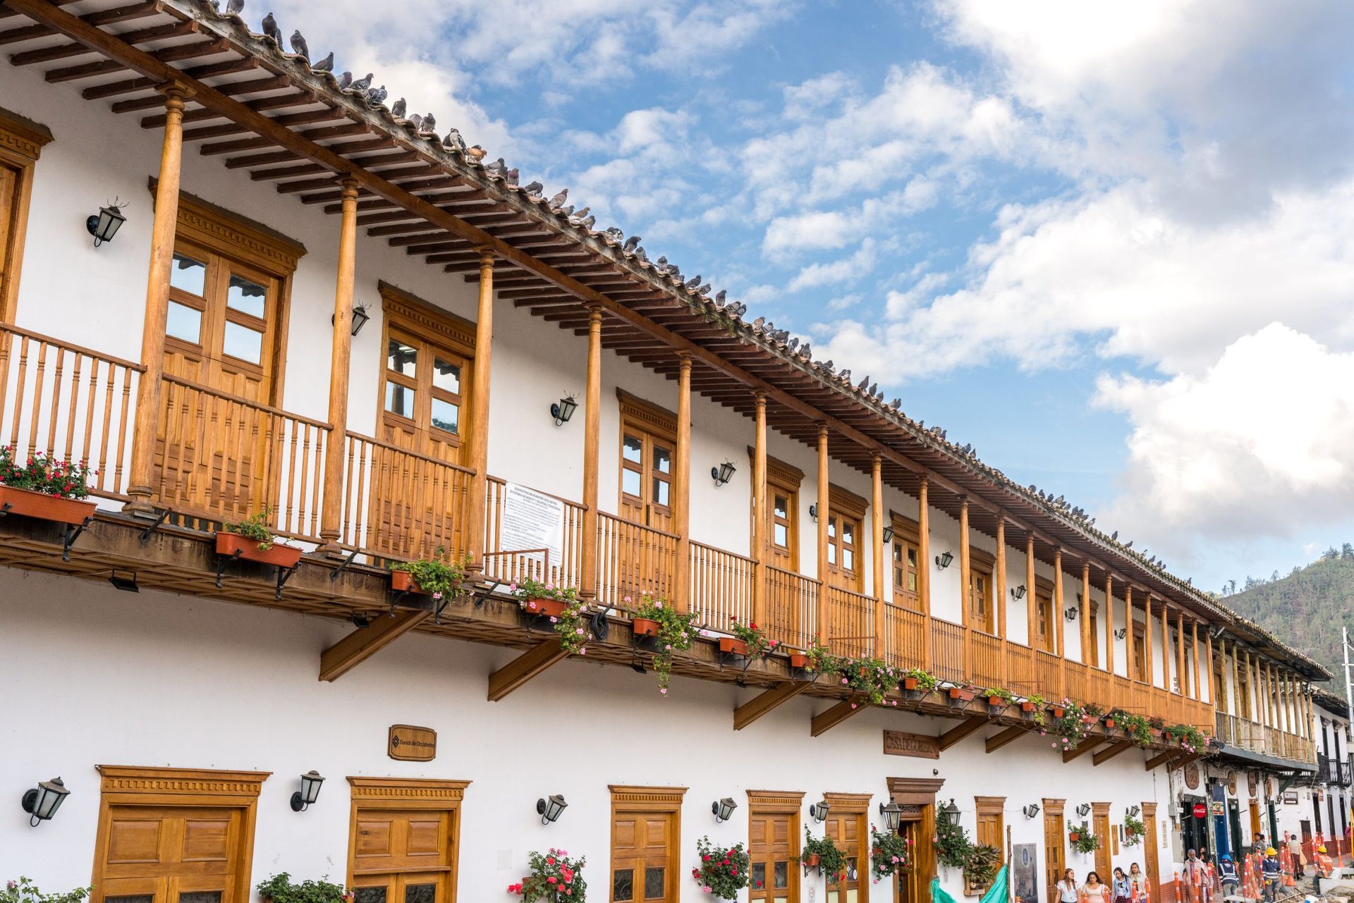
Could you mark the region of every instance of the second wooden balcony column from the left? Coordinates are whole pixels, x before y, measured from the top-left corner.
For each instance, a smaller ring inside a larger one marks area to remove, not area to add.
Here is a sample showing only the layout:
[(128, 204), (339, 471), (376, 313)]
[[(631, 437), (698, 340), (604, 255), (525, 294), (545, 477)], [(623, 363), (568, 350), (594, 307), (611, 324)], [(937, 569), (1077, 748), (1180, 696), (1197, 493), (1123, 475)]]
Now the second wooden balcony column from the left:
[[(357, 181), (341, 183), (338, 275), (334, 280), (334, 325), (329, 347), (329, 439), (325, 445), (324, 506), (320, 509), (317, 551), (337, 554), (343, 523), (344, 452), (348, 435), (348, 371), (352, 356), (352, 287), (357, 278)], [(479, 424), (475, 424), (478, 428)]]

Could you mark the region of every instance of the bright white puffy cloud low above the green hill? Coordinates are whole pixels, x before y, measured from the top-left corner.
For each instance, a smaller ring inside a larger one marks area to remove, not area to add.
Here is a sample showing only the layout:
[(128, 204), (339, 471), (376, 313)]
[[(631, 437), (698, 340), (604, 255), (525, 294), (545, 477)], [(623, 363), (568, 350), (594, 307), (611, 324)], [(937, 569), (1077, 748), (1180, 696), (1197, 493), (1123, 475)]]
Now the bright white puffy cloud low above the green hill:
[(1270, 324), (1200, 375), (1102, 376), (1128, 417), (1125, 491), (1110, 512), (1189, 554), (1197, 536), (1293, 537), (1354, 508), (1354, 353)]

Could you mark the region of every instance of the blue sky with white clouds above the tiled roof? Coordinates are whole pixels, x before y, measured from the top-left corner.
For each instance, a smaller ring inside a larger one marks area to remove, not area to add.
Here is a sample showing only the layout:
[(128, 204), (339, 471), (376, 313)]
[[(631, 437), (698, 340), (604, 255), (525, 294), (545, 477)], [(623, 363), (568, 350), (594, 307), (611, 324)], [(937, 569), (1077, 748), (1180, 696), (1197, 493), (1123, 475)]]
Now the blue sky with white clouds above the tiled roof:
[(276, 14), (1196, 585), (1354, 540), (1343, 0)]

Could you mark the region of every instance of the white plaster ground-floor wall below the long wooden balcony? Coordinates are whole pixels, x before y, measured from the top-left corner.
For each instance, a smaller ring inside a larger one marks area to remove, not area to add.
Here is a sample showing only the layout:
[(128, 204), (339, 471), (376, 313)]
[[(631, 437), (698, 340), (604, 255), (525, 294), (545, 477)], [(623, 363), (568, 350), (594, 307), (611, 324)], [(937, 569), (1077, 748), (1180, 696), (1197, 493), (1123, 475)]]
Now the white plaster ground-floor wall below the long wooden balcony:
[[(810, 738), (807, 722), (826, 703), (808, 699), (735, 732), (730, 711), (751, 690), (678, 678), (661, 697), (651, 676), (578, 661), (487, 703), (486, 677), (513, 651), (418, 635), (401, 638), (337, 682), (317, 681), (321, 650), (345, 630), (299, 615), (0, 570), (5, 793), (16, 801), (34, 783), (58, 774), (72, 791), (57, 818), (37, 829), (16, 804), (0, 808), (0, 875), (23, 873), (47, 889), (88, 880), (97, 764), (271, 772), (259, 801), (252, 883), (276, 871), (298, 879), (344, 876), (345, 776), (470, 780), (459, 888), (467, 900), (500, 899), (520, 877), (527, 852), (551, 845), (586, 854), (585, 876), (604, 895), (608, 784), (689, 788), (682, 900), (705, 899), (689, 877), (697, 838), (746, 839), (749, 788), (806, 792), (802, 818), (808, 822), (807, 804), (825, 791), (873, 793), (873, 812), (888, 777), (932, 777), (934, 769), (945, 778), (941, 799), (955, 799), (969, 831), (974, 796), (1005, 796), (1011, 839), (1039, 845), (1040, 869), (1043, 818), (1028, 820), (1021, 807), (1045, 795), (1064, 797), (1068, 812), (1083, 801), (1109, 801), (1118, 824), (1128, 806), (1166, 803), (1164, 776), (1145, 773), (1139, 751), (1099, 768), (1090, 757), (1064, 765), (1037, 735), (995, 755), (975, 735), (938, 761), (890, 757), (881, 753), (883, 728), (937, 734), (952, 723), (877, 711)], [(437, 758), (389, 759), (386, 731), (394, 723), (435, 728)], [(295, 776), (309, 769), (329, 780), (310, 811), (294, 814), (287, 800)], [(556, 824), (543, 827), (533, 803), (548, 793), (563, 793), (570, 806)], [(722, 796), (743, 808), (716, 826), (709, 803)], [(1114, 864), (1135, 860), (1141, 861), (1141, 847), (1122, 850)], [(1085, 873), (1093, 858), (1071, 853), (1068, 862)], [(1169, 879), (1164, 854), (1162, 871)], [(961, 892), (957, 873), (944, 880)], [(886, 887), (861, 899), (892, 899)], [(803, 899), (812, 899), (810, 888), (823, 899), (819, 879), (808, 879)]]

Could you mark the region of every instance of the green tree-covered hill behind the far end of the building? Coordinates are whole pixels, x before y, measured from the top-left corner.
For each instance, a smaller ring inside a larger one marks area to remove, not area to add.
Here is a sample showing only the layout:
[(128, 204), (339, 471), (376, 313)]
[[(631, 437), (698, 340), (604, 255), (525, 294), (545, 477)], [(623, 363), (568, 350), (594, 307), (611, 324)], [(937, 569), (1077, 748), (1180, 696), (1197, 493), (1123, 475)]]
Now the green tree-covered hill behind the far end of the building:
[(1349, 543), (1343, 552), (1330, 548), (1288, 577), (1275, 571), (1267, 579), (1247, 577), (1242, 586), (1228, 583), (1221, 601), (1324, 665), (1336, 677), (1330, 689), (1345, 693), (1340, 627), (1354, 627), (1354, 548)]

